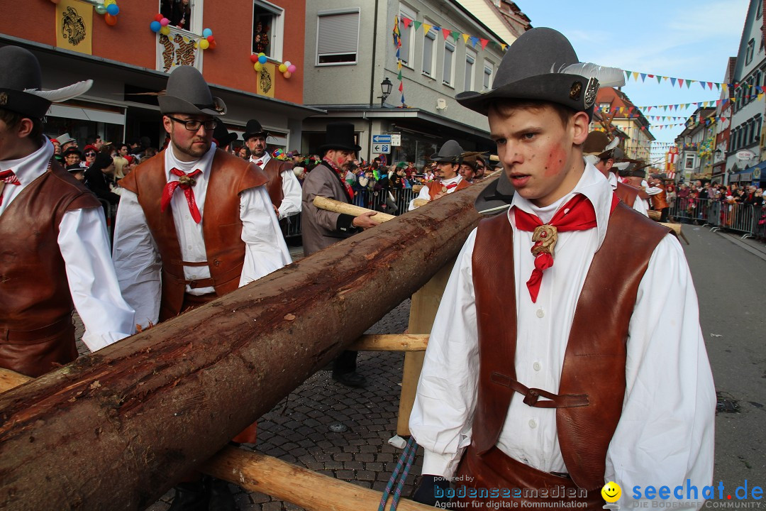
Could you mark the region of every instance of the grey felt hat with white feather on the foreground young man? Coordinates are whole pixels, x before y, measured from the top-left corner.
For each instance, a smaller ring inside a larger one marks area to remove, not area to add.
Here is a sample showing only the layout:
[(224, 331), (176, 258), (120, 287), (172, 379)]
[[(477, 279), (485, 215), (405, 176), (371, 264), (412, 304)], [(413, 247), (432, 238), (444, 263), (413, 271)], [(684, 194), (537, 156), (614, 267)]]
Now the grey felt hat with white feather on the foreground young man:
[(593, 113), (599, 82), (624, 85), (622, 70), (581, 63), (568, 39), (552, 28), (532, 28), (511, 44), (497, 68), (493, 88), (461, 92), (455, 99), (486, 115), (493, 100), (542, 100)]

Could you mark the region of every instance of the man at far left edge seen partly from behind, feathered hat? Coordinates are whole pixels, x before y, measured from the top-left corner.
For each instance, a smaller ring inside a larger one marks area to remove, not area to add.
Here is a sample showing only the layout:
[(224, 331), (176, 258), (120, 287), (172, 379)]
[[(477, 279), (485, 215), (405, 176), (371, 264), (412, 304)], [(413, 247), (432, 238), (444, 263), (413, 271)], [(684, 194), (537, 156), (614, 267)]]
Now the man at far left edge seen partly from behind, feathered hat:
[(0, 367), (39, 376), (77, 358), (73, 307), (92, 351), (133, 333), (100, 203), (53, 158), (42, 134), (51, 102), (91, 80), (41, 90), (38, 60), (0, 48)]

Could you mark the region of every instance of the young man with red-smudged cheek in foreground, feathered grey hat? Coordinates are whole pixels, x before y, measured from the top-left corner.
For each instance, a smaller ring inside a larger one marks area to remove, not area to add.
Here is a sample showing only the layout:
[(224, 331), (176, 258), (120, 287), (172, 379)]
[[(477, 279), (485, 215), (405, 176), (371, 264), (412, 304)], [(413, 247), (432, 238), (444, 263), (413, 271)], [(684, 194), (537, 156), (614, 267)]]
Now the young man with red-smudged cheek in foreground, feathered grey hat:
[(493, 89), (457, 95), (488, 116), (515, 193), (470, 234), (430, 332), (410, 419), (420, 502), (453, 477), (471, 509), (601, 509), (607, 481), (712, 480), (715, 388), (683, 249), (583, 159), (610, 74), (532, 28)]

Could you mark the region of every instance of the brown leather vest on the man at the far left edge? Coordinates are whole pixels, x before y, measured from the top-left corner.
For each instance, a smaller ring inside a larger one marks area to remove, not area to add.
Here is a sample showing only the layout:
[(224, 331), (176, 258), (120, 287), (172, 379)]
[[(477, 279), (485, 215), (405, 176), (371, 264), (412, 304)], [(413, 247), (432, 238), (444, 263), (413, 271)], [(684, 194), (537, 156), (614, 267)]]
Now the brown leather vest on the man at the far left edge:
[(52, 160), (0, 215), (0, 367), (37, 377), (77, 358), (58, 226), (83, 208), (100, 202)]

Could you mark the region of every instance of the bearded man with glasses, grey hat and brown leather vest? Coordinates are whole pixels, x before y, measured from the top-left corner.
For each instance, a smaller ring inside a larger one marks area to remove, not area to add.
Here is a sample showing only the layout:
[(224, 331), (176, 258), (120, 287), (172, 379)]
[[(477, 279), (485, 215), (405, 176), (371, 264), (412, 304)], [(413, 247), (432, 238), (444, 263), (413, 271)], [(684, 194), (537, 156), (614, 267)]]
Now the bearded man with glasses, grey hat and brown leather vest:
[[(224, 115), (226, 106), (212, 96), (201, 73), (176, 67), (158, 100), (170, 143), (119, 182), (123, 193), (114, 233), (120, 287), (142, 326), (208, 303), (291, 262), (264, 172), (212, 142), (215, 116)], [(252, 424), (234, 441), (255, 439)], [(201, 477), (191, 479), (176, 487), (173, 511), (206, 509), (211, 486)], [(216, 488), (224, 509), (233, 509), (226, 485)]]

